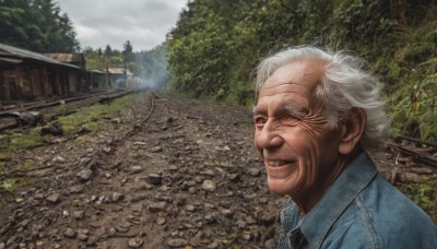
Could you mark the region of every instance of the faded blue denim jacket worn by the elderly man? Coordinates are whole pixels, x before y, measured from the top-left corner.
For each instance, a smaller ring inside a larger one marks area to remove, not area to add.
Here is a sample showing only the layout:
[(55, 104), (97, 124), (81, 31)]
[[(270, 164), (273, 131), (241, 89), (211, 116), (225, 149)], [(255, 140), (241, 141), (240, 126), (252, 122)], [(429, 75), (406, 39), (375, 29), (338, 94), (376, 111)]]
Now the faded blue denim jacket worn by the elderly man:
[[(378, 174), (366, 152), (343, 170), (310, 212), (303, 217), (299, 213), (287, 198), (279, 248), (437, 248), (436, 224)], [(296, 239), (300, 246), (294, 246)]]

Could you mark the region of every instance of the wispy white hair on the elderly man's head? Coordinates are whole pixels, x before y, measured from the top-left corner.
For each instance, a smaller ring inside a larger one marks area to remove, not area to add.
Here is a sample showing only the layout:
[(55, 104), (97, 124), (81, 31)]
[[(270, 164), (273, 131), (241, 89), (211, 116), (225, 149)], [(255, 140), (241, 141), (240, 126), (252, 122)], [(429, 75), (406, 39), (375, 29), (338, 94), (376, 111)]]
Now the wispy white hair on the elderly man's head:
[(367, 123), (361, 143), (366, 149), (388, 139), (391, 117), (386, 106), (382, 84), (366, 61), (345, 51), (322, 50), (312, 46), (287, 48), (263, 59), (257, 68), (256, 102), (267, 79), (279, 68), (296, 60), (324, 61), (324, 71), (315, 95), (326, 105), (328, 124), (335, 128), (351, 108), (365, 110)]

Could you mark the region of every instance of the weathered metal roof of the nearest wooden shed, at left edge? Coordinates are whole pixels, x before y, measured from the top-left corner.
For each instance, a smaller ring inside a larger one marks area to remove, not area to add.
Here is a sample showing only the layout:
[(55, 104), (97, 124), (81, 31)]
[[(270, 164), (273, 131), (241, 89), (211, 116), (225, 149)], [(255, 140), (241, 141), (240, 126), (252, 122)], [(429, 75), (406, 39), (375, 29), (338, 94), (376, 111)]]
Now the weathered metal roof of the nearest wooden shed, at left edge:
[(25, 50), (22, 48), (12, 47), (12, 46), (9, 46), (5, 44), (0, 44), (0, 58), (2, 58), (3, 61), (10, 60), (10, 59), (13, 59), (16, 61), (16, 58), (33, 59), (33, 60), (37, 60), (37, 61), (44, 61), (47, 63), (51, 63), (51, 64), (59, 64), (59, 66), (64, 66), (64, 67), (69, 67), (69, 68), (81, 69), (80, 67), (69, 64), (69, 63), (62, 63), (58, 60), (51, 59), (49, 57), (43, 56), (37, 52), (33, 52), (33, 51)]

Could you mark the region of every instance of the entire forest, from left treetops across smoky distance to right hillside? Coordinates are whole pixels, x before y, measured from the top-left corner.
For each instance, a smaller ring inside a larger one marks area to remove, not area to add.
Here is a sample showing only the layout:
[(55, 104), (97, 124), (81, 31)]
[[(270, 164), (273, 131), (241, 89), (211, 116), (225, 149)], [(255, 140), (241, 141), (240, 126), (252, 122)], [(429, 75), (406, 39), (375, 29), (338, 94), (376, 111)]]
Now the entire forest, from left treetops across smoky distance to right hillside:
[(435, 0), (190, 0), (151, 49), (81, 48), (54, 0), (0, 0), (0, 43), (37, 52), (83, 52), (87, 69), (126, 67), (153, 85), (228, 105), (253, 104), (257, 62), (286, 46), (352, 50), (386, 83), (393, 134), (437, 139)]

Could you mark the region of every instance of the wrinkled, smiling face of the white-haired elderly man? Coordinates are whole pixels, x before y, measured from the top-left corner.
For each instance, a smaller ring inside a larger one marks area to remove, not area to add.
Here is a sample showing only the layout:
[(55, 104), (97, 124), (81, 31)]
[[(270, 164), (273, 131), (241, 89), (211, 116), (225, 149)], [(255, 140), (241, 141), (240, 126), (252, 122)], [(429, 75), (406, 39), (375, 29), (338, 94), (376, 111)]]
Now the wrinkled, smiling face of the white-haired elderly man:
[(269, 188), (277, 194), (311, 199), (336, 174), (341, 132), (328, 126), (323, 105), (314, 97), (323, 66), (288, 63), (259, 93), (255, 145), (263, 157)]

